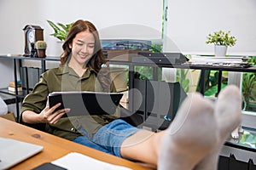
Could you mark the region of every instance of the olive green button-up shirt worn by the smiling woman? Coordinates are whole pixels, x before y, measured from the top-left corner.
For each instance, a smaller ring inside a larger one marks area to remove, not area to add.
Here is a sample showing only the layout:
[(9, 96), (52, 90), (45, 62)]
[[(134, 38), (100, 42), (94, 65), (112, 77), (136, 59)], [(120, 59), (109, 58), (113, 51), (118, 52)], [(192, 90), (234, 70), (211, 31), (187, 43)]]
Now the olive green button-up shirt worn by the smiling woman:
[[(97, 73), (91, 67), (84, 72), (82, 77), (67, 65), (45, 71), (35, 85), (32, 94), (26, 95), (21, 106), (21, 119), (23, 111), (40, 113), (46, 106), (49, 93), (60, 91), (102, 91), (101, 82), (97, 80)], [(110, 91), (115, 92), (113, 83)], [(79, 128), (93, 136), (96, 131), (108, 122), (119, 117), (119, 111), (114, 116), (69, 116), (63, 117), (55, 124), (46, 124), (46, 132), (61, 138), (73, 140), (81, 135)], [(20, 120), (22, 121), (22, 120)]]

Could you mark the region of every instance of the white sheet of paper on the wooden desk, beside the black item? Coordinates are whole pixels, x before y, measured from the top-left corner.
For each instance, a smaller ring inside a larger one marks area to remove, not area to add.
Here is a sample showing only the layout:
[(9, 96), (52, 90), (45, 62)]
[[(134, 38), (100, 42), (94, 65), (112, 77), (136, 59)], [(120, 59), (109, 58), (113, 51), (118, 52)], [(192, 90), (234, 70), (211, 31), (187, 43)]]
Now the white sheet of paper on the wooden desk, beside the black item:
[[(76, 170), (76, 169), (94, 169), (94, 170), (129, 170), (128, 167), (121, 167), (117, 165), (113, 165), (107, 163), (105, 161), (99, 161), (89, 156), (84, 156), (80, 153), (69, 153), (66, 156), (63, 156), (51, 163), (59, 166), (64, 167), (69, 170)], [(131, 170), (131, 169), (130, 169)]]

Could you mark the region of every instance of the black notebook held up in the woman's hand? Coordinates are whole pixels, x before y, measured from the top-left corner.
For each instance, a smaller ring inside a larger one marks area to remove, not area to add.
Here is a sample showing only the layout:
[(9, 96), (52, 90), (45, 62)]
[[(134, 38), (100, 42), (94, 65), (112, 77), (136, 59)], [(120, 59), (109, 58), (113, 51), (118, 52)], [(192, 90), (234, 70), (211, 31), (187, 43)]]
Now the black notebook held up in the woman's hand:
[(123, 94), (102, 92), (53, 92), (49, 94), (49, 108), (70, 108), (65, 116), (111, 115), (115, 113)]

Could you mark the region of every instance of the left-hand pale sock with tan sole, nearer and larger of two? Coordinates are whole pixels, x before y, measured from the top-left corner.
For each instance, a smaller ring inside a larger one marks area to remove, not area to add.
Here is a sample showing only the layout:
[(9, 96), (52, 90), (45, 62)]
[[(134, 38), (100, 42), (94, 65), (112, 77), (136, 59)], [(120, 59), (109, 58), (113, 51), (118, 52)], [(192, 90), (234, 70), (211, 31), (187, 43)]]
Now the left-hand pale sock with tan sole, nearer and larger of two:
[(162, 139), (158, 169), (192, 169), (218, 142), (217, 122), (210, 100), (191, 94)]

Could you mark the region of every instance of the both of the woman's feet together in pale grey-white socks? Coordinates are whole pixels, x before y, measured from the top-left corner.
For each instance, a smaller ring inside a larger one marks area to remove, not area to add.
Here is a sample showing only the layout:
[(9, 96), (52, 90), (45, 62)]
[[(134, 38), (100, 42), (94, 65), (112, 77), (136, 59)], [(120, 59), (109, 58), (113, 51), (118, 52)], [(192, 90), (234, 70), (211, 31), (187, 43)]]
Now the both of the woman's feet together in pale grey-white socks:
[(201, 94), (183, 101), (166, 129), (158, 160), (159, 169), (216, 169), (218, 151), (241, 122), (241, 94), (225, 88), (215, 104)]

